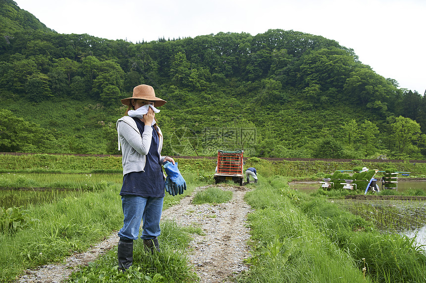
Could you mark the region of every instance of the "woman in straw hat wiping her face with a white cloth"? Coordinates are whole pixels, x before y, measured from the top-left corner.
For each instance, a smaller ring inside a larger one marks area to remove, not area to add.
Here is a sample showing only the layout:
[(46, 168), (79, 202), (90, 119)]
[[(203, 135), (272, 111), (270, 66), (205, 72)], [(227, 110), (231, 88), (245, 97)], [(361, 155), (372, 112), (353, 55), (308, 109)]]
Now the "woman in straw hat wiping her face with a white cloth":
[[(123, 186), (120, 191), (124, 225), (118, 232), (118, 269), (125, 271), (133, 263), (133, 240), (141, 238), (145, 248), (159, 251), (160, 218), (164, 198), (164, 174), (161, 165), (173, 158), (161, 156), (163, 137), (155, 121), (156, 107), (165, 100), (156, 97), (153, 87), (140, 85), (133, 96), (121, 99), (126, 116), (117, 121), (118, 149), (122, 150)], [(169, 180), (167, 180), (169, 181)], [(166, 183), (167, 183), (166, 181)]]

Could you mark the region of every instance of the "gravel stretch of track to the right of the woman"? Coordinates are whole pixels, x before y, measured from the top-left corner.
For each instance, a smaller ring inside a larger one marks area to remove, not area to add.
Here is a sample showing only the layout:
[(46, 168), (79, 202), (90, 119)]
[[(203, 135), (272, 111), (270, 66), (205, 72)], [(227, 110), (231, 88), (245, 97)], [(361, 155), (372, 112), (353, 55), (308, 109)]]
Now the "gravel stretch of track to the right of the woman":
[(162, 214), (163, 219), (174, 219), (178, 225), (200, 227), (205, 236), (192, 235), (189, 259), (201, 283), (232, 282), (232, 277), (247, 269), (243, 259), (249, 257), (247, 213), (250, 206), (243, 197), (247, 188), (217, 185), (233, 192), (227, 203), (216, 205), (191, 203), (192, 196)]

